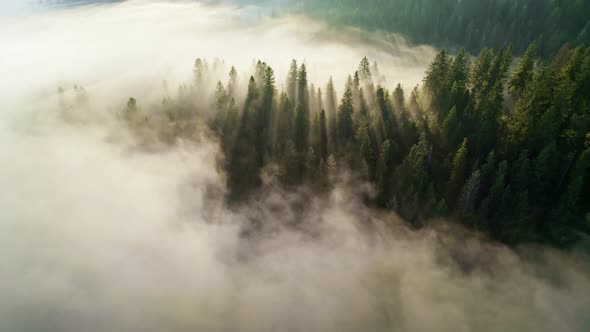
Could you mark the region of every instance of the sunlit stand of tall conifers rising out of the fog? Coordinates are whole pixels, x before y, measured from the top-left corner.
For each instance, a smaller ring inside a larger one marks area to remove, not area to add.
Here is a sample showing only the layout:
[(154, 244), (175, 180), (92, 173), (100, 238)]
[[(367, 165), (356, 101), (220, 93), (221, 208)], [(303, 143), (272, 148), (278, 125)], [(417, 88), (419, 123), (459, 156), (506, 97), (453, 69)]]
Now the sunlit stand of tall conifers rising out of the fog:
[(123, 118), (167, 142), (205, 123), (225, 155), (231, 200), (270, 169), (287, 188), (320, 193), (346, 169), (375, 187), (368, 204), (416, 227), (451, 217), (506, 242), (567, 243), (590, 231), (590, 48), (541, 62), (531, 44), (511, 64), (509, 48), (474, 58), (443, 50), (407, 93), (376, 85), (364, 58), (338, 97), (331, 79), (315, 87), (295, 60), (284, 91), (260, 61), (246, 91), (234, 68), (212, 89), (220, 65), (199, 59), (177, 98), (149, 114), (130, 99)]

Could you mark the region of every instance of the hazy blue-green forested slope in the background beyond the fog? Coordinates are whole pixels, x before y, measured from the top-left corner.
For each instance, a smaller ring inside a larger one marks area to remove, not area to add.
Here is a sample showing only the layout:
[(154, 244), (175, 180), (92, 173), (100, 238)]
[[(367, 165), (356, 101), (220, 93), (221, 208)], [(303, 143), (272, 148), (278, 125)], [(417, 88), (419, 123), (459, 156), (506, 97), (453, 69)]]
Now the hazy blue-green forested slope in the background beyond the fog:
[(548, 56), (565, 42), (590, 44), (590, 1), (563, 0), (302, 0), (297, 10), (337, 24), (399, 32), (416, 43), (505, 47), (520, 54), (537, 40)]

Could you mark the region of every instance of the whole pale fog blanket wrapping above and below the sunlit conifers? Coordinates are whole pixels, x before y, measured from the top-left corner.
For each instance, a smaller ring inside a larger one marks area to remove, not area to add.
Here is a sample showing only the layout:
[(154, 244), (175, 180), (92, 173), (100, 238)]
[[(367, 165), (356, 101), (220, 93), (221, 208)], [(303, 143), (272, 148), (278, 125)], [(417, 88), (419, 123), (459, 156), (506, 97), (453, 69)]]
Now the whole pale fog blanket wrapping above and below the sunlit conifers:
[[(575, 250), (413, 231), (346, 174), (323, 197), (269, 179), (229, 207), (214, 139), (144, 151), (114, 116), (190, 82), (196, 57), (241, 77), (260, 58), (279, 84), (296, 58), (341, 86), (368, 55), (411, 87), (434, 54), (361, 35), (194, 2), (0, 18), (0, 331), (587, 331)], [(97, 116), (64, 121), (56, 91), (73, 84)]]

